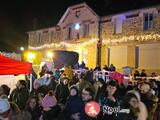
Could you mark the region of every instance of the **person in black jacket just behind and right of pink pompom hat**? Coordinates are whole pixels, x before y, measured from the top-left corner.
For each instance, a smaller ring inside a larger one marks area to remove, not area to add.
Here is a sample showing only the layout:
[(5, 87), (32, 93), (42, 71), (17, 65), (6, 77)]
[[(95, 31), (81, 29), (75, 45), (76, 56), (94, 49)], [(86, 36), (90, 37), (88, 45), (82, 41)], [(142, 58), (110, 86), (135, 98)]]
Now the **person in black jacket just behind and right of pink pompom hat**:
[(56, 86), (56, 89), (55, 89), (55, 96), (58, 103), (61, 103), (62, 105), (66, 104), (67, 98), (69, 96), (67, 77), (60, 79), (60, 83)]

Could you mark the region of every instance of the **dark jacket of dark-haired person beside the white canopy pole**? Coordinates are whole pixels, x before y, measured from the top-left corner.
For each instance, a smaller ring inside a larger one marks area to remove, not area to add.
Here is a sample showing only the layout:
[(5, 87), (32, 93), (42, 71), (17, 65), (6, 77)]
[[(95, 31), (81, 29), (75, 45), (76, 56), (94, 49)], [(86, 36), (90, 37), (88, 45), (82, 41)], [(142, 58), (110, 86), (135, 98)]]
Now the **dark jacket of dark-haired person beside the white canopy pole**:
[(29, 91), (27, 88), (15, 88), (10, 95), (10, 101), (16, 103), (20, 110), (24, 110), (28, 97)]

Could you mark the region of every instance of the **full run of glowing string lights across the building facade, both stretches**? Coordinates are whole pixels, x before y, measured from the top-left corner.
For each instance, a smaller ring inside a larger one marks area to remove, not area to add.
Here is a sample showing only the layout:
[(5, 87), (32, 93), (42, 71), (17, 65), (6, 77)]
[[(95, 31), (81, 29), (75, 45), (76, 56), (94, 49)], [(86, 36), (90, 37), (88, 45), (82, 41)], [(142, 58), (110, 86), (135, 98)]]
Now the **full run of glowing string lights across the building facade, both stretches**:
[[(121, 38), (108, 38), (102, 40), (102, 44), (117, 44), (117, 43), (125, 43), (125, 42), (133, 42), (133, 41), (148, 41), (148, 40), (160, 40), (160, 34), (147, 34), (147, 35), (131, 35), (125, 36)], [(97, 39), (93, 38), (89, 41), (83, 43), (67, 43), (67, 42), (60, 42), (60, 43), (51, 43), (51, 44), (44, 44), (39, 47), (29, 46), (30, 50), (40, 50), (44, 48), (59, 48), (59, 47), (73, 47), (73, 46), (87, 46), (93, 43), (97, 43)]]

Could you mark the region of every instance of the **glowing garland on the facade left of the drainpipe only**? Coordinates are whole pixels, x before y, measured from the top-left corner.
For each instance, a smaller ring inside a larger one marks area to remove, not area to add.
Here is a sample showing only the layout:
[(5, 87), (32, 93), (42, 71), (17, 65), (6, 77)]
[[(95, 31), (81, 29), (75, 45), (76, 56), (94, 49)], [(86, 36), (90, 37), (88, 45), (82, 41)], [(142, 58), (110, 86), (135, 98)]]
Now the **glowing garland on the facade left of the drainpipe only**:
[(39, 47), (29, 46), (29, 49), (30, 50), (41, 50), (44, 48), (59, 48), (59, 47), (73, 47), (73, 46), (78, 47), (78, 46), (87, 46), (87, 45), (90, 45), (90, 44), (96, 43), (96, 42), (97, 42), (97, 39), (93, 38), (93, 39), (86, 41), (86, 42), (83, 42), (83, 43), (60, 42), (60, 43), (44, 44)]

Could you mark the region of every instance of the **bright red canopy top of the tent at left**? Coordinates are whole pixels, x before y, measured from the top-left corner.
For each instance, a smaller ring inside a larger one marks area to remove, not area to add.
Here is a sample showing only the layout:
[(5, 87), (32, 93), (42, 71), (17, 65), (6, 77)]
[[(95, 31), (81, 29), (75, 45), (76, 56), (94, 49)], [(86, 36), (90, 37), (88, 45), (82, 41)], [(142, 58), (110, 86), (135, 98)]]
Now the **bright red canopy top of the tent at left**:
[(32, 73), (32, 64), (13, 60), (0, 55), (0, 75), (10, 74), (30, 74)]

